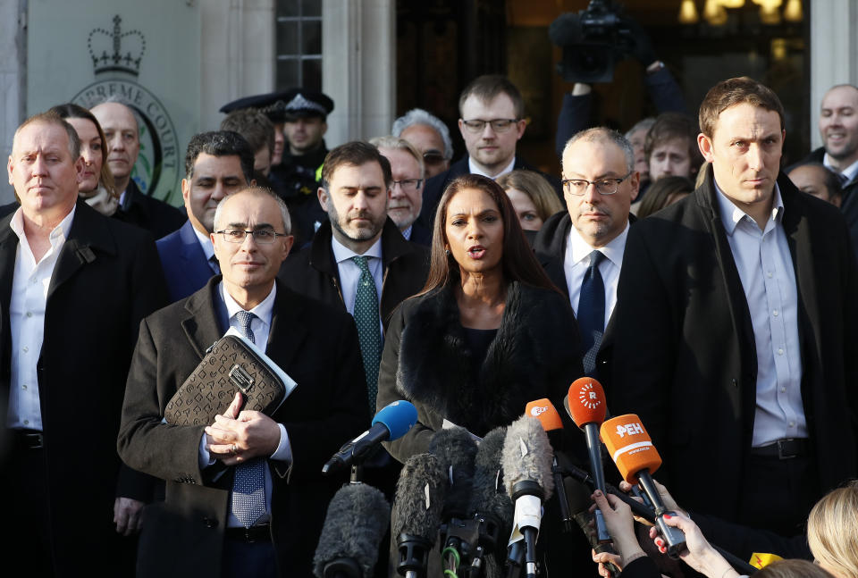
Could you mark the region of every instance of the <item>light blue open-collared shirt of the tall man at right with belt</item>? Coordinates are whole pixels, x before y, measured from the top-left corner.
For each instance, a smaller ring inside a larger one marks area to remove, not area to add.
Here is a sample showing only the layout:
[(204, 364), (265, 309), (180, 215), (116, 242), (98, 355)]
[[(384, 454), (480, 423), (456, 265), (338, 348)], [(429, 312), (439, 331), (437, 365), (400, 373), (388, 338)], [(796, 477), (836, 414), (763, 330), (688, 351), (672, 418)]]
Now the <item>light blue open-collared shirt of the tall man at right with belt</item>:
[(784, 232), (784, 203), (775, 184), (771, 218), (764, 230), (716, 185), (721, 222), (742, 281), (757, 353), (757, 406), (752, 446), (782, 438), (806, 438), (802, 403), (802, 355), (798, 339), (798, 291)]

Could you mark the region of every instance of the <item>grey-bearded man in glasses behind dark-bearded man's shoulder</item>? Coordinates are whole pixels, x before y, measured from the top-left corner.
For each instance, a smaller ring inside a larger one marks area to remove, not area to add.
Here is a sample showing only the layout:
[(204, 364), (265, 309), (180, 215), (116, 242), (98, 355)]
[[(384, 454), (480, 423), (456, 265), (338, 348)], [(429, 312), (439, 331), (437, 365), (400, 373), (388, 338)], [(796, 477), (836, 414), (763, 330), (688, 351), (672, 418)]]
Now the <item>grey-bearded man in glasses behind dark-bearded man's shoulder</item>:
[(387, 216), (396, 223), (405, 239), (428, 247), (432, 243), (432, 231), (416, 222), (423, 206), (425, 157), (404, 138), (377, 137), (370, 139), (369, 144), (378, 147), (378, 152), (391, 162), (393, 184)]

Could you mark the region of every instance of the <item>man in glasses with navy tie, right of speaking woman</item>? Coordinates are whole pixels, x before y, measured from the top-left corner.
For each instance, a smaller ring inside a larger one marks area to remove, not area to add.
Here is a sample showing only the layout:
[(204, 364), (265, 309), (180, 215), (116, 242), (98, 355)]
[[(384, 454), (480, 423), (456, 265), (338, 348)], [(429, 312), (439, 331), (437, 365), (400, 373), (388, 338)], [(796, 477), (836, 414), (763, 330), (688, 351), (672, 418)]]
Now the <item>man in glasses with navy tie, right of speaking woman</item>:
[(568, 213), (545, 222), (534, 240), (537, 258), (564, 290), (581, 331), (585, 373), (607, 387), (617, 283), (629, 228), (629, 206), (640, 174), (628, 140), (595, 128), (570, 138), (563, 150)]

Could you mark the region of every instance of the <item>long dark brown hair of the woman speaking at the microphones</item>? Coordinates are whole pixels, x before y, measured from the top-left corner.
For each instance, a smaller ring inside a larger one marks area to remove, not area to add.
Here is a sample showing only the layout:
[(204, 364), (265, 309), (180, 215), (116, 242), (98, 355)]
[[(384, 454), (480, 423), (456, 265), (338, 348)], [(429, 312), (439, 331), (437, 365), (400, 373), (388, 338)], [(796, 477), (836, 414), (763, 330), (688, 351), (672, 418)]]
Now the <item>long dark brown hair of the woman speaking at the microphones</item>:
[(450, 200), (459, 191), (466, 188), (476, 188), (484, 191), (498, 205), (503, 222), (503, 255), (501, 264), (503, 266), (504, 278), (509, 281), (520, 281), (533, 287), (552, 289), (559, 292), (554, 284), (545, 274), (542, 265), (536, 260), (533, 249), (527, 243), (521, 224), (518, 222), (515, 209), (509, 201), (509, 197), (501, 186), (491, 179), (480, 175), (466, 174), (453, 180), (444, 191), (438, 210), (435, 212), (433, 225), (432, 251), (429, 264), (429, 276), (426, 284), (418, 295), (425, 295), (435, 289), (442, 289), (450, 284), (450, 281), (458, 281), (460, 272), (458, 263), (453, 255), (447, 255), (447, 232), (444, 227), (447, 221), (447, 207)]

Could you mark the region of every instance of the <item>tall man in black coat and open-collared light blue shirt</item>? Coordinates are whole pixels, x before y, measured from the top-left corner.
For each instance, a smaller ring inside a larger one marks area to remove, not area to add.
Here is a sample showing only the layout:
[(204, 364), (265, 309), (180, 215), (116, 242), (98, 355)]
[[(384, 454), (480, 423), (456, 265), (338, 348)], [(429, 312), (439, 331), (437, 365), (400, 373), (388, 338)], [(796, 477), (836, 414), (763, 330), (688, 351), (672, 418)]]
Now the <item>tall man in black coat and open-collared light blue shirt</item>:
[(609, 403), (683, 507), (792, 535), (858, 473), (858, 275), (837, 208), (778, 174), (783, 114), (747, 78), (703, 100), (706, 179), (629, 234)]

